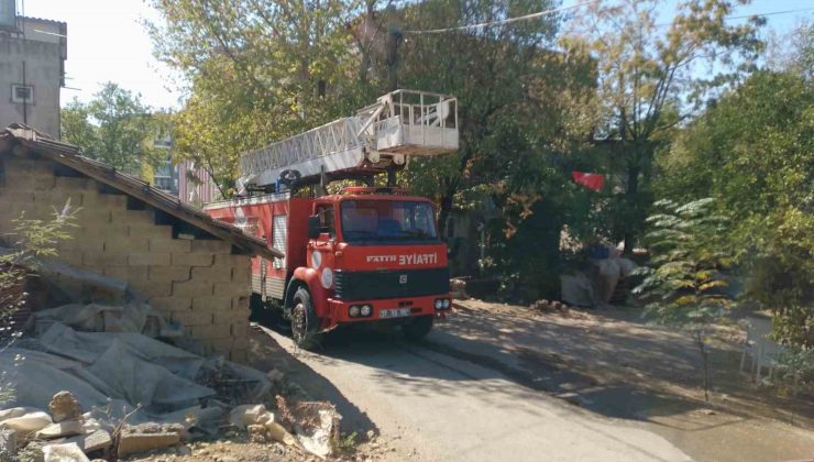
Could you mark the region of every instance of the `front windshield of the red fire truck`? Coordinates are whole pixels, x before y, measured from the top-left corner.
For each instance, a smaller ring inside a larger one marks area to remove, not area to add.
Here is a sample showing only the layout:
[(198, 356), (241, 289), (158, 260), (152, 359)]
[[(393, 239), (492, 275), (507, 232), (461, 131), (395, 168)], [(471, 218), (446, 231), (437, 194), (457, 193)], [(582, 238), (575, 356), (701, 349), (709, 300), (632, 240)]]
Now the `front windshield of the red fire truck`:
[(342, 237), (361, 241), (438, 241), (432, 207), (409, 200), (342, 201)]

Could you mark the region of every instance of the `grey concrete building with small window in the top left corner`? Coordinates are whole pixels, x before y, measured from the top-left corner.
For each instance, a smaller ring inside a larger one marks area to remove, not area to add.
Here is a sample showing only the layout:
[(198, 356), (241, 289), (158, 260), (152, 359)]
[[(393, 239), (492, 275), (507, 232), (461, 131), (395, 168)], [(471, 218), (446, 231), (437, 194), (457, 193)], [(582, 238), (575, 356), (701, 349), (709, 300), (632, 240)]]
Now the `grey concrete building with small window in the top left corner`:
[(13, 0), (0, 1), (0, 128), (22, 121), (59, 138), (68, 26), (19, 16)]

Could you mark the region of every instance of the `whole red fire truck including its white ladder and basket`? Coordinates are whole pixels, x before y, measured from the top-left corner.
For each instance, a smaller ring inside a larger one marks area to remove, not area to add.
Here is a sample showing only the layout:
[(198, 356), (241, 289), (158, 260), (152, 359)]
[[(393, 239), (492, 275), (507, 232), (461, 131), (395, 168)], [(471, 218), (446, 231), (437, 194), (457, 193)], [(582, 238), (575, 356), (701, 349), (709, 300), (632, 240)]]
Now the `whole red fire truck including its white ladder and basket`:
[[(452, 97), (398, 90), (242, 155), (238, 197), (205, 210), (285, 254), (252, 262), (255, 316), (282, 315), (307, 349), (343, 323), (430, 331), (451, 306), (447, 248), (431, 201), (395, 187), (395, 173), (457, 150), (457, 112)], [(380, 175), (386, 187), (374, 186)]]

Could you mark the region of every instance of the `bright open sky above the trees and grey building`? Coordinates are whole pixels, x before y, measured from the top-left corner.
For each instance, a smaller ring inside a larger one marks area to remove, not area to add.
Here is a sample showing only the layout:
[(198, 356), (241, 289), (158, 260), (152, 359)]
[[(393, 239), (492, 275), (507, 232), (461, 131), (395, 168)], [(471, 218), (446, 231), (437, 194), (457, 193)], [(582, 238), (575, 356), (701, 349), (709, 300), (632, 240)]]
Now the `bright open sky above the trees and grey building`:
[[(564, 0), (563, 6), (583, 0)], [(18, 0), (26, 16), (68, 23), (68, 59), (63, 106), (73, 98), (87, 102), (106, 81), (141, 94), (153, 108), (177, 109), (180, 91), (177, 75), (153, 56), (153, 45), (144, 30), (144, 20), (158, 19), (144, 0)], [(666, 0), (672, 11), (679, 0)], [(814, 9), (814, 0), (754, 0), (739, 7), (737, 15), (774, 11)], [(767, 16), (768, 28), (779, 34), (789, 32), (803, 18), (814, 20), (814, 10)]]

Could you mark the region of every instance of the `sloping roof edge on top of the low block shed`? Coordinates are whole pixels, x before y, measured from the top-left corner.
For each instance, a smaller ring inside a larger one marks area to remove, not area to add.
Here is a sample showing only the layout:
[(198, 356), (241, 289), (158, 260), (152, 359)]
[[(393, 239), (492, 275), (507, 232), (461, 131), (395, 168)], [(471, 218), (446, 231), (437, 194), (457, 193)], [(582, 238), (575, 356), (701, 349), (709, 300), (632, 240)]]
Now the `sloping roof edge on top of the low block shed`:
[(74, 145), (55, 141), (46, 134), (19, 123), (13, 123), (6, 130), (0, 131), (0, 152), (11, 151), (18, 145), (142, 200), (197, 229), (228, 241), (252, 255), (260, 255), (268, 260), (285, 256), (276, 249), (270, 249), (264, 240), (249, 235), (232, 224), (216, 220), (201, 210), (182, 202), (177, 197), (150, 186), (148, 183), (140, 178), (125, 175), (92, 158), (84, 157), (79, 148)]

